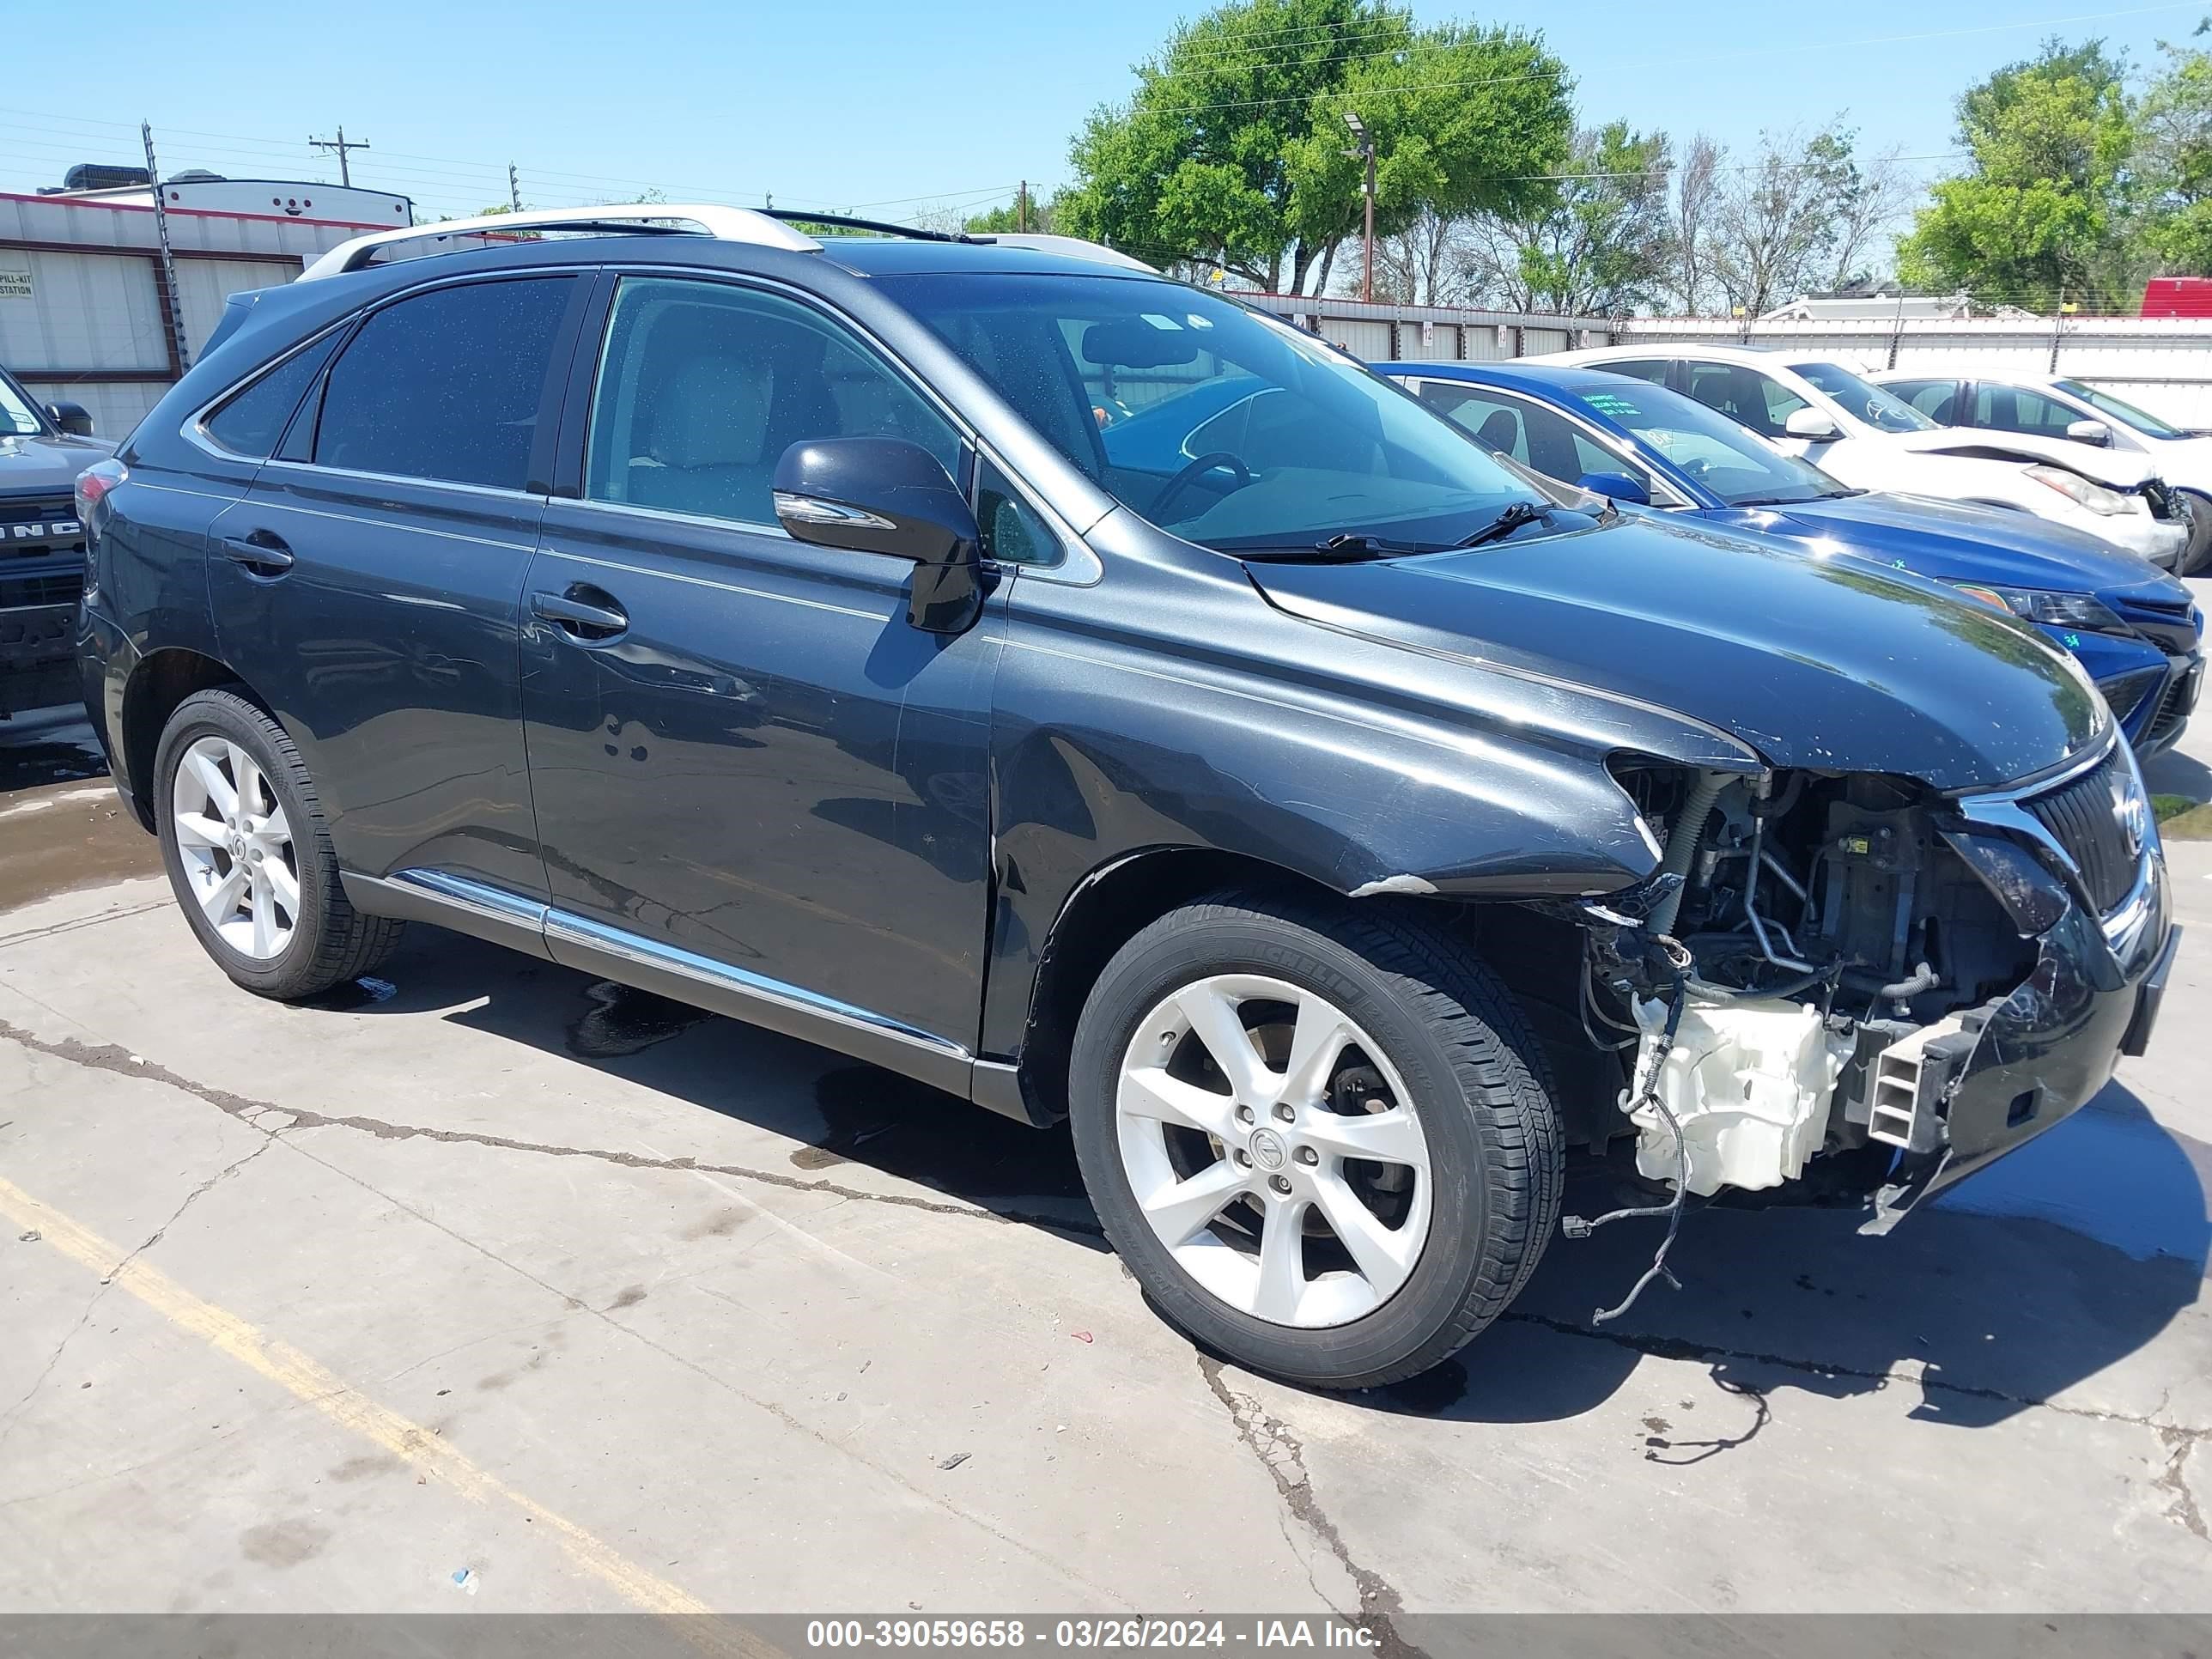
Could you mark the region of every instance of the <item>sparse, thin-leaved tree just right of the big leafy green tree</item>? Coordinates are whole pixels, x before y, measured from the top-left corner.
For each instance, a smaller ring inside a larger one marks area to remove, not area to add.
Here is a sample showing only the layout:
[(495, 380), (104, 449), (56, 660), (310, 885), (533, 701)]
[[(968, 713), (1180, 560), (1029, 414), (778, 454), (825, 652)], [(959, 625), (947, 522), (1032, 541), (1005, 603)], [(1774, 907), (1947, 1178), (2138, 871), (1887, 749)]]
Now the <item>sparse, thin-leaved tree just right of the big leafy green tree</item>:
[(1668, 139), (1608, 122), (1575, 133), (1548, 199), (1473, 223), (1471, 288), (1515, 312), (1613, 316), (1648, 305), (1672, 265)]

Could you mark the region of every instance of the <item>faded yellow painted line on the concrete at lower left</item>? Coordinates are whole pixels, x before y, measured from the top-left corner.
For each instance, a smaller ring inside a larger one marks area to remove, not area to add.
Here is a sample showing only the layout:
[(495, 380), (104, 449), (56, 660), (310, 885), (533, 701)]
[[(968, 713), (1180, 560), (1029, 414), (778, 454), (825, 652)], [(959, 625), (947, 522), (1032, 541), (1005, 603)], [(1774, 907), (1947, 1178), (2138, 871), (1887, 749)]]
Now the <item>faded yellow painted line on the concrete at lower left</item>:
[[(633, 1606), (666, 1617), (699, 1617), (712, 1613), (712, 1608), (699, 1597), (637, 1566), (637, 1562), (630, 1562), (611, 1544), (593, 1537), (573, 1520), (555, 1515), (544, 1504), (531, 1502), (498, 1475), (473, 1464), (429, 1429), (418, 1422), (409, 1422), (398, 1411), (378, 1405), (361, 1389), (347, 1385), (310, 1354), (301, 1354), (296, 1347), (274, 1336), (263, 1336), (237, 1314), (217, 1307), (210, 1301), (201, 1301), (159, 1267), (150, 1267), (144, 1261), (131, 1261), (128, 1250), (119, 1250), (91, 1228), (77, 1225), (66, 1214), (33, 1199), (4, 1177), (0, 1177), (0, 1214), (24, 1232), (38, 1232), (44, 1243), (53, 1245), (82, 1267), (91, 1267), (102, 1281), (137, 1296), (146, 1303), (146, 1307), (157, 1312), (177, 1329), (197, 1336), (208, 1347), (228, 1354), (250, 1371), (265, 1376), (292, 1398), (314, 1407), (332, 1422), (352, 1429), (363, 1440), (383, 1447), (394, 1458), (400, 1458), (416, 1471), (438, 1480), (451, 1491), (458, 1491), (469, 1502), (487, 1506), (511, 1504), (513, 1509), (531, 1515), (540, 1526), (553, 1531), (571, 1562), (591, 1573), (595, 1579), (613, 1586)], [(708, 1637), (710, 1646), (737, 1644), (739, 1648), (748, 1648), (752, 1652), (774, 1652), (765, 1644), (759, 1644), (730, 1626), (723, 1626), (712, 1635), (701, 1628), (699, 1635)]]

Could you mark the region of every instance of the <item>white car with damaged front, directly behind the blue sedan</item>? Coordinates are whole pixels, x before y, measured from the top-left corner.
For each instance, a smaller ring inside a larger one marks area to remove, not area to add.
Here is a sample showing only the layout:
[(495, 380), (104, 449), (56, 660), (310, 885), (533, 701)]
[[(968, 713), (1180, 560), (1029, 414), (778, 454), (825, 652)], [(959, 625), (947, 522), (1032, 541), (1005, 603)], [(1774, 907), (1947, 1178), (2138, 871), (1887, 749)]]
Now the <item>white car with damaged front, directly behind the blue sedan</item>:
[(1856, 369), (1752, 345), (1666, 341), (1557, 352), (1686, 392), (1854, 489), (2011, 507), (2174, 568), (2190, 544), (2181, 504), (2146, 456), (2070, 438), (1942, 427)]

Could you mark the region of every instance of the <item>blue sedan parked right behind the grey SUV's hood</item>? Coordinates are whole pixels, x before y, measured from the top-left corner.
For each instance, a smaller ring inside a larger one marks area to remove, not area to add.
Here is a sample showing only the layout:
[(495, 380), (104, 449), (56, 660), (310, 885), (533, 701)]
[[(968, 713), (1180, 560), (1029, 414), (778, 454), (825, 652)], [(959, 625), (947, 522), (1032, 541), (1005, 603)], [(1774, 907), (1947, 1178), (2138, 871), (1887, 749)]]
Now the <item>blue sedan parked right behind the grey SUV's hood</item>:
[[(2172, 748), (2197, 706), (2203, 613), (2188, 586), (2090, 535), (1993, 507), (1849, 489), (1705, 405), (1624, 374), (1551, 363), (1374, 367), (1548, 478), (1849, 551), (2026, 617), (2081, 659), (2137, 754)], [(1110, 451), (1110, 429), (1106, 442)]]

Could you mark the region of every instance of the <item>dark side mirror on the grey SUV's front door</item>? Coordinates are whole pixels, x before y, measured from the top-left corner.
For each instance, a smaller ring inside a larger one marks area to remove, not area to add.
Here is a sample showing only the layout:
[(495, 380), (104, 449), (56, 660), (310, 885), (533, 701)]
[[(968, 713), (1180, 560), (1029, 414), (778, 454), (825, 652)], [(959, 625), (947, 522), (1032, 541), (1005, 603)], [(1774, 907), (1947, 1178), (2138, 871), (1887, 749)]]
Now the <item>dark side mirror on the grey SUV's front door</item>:
[(905, 438), (812, 438), (783, 451), (776, 522), (794, 542), (914, 560), (907, 622), (962, 633), (982, 608), (982, 531), (951, 473)]

